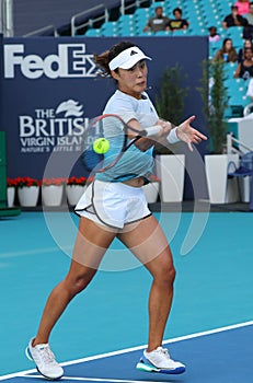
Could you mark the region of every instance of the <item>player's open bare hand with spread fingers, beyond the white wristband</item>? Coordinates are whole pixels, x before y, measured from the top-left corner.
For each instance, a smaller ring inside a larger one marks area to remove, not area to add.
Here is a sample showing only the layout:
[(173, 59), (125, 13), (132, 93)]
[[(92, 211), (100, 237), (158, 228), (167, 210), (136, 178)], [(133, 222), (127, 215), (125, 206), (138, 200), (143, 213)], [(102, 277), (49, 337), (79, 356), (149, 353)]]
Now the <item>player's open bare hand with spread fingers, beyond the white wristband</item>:
[(184, 123), (182, 123), (177, 129), (176, 135), (181, 141), (187, 143), (188, 149), (193, 151), (192, 143), (199, 143), (202, 140), (207, 140), (207, 137), (203, 135), (197, 129), (194, 129), (191, 124), (195, 119), (195, 116), (189, 117)]

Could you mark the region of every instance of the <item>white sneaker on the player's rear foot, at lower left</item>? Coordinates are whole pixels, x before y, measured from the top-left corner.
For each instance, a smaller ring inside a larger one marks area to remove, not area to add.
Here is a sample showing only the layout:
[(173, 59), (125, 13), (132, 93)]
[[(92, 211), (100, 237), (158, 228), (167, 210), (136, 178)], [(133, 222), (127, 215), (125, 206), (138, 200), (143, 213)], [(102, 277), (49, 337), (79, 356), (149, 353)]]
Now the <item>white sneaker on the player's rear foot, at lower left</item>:
[(64, 375), (64, 369), (57, 363), (54, 353), (48, 344), (32, 346), (33, 339), (30, 340), (25, 349), (26, 357), (33, 360), (38, 372), (50, 380), (60, 379)]

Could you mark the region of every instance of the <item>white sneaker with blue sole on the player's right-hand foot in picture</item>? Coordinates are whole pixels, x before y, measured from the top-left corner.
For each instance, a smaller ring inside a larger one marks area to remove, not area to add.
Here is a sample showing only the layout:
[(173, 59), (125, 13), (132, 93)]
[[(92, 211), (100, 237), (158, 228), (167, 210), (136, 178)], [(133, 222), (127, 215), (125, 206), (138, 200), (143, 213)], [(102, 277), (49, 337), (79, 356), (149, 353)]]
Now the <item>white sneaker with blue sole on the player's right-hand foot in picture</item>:
[(166, 348), (158, 347), (151, 352), (143, 351), (136, 368), (148, 372), (179, 374), (185, 372), (185, 365), (171, 359)]

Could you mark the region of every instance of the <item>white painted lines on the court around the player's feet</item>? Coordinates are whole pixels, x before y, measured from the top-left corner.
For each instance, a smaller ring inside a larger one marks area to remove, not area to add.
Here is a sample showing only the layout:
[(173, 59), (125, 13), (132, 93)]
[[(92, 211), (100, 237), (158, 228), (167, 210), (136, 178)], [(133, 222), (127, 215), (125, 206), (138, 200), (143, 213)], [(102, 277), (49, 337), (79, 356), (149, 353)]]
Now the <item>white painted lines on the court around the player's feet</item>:
[[(237, 329), (237, 328), (252, 326), (252, 325), (253, 325), (253, 321), (238, 323), (235, 325), (219, 327), (219, 328), (209, 329), (209, 330), (206, 330), (206, 332), (200, 332), (200, 333), (195, 333), (195, 334), (181, 336), (181, 337), (177, 337), (177, 338), (168, 339), (168, 340), (163, 341), (163, 345), (173, 344), (173, 343), (182, 341), (182, 340), (194, 339), (194, 338), (198, 338), (198, 337), (202, 337), (202, 336), (207, 336), (207, 335), (211, 335), (211, 334), (218, 334), (218, 333), (227, 332), (229, 329)], [(68, 362), (60, 363), (60, 364), (61, 365), (71, 365), (71, 364), (77, 364), (77, 363), (83, 363), (83, 362), (88, 362), (88, 361), (91, 361), (91, 360), (96, 360), (96, 359), (102, 359), (102, 358), (110, 358), (110, 357), (114, 357), (114, 356), (122, 355), (122, 353), (138, 351), (138, 350), (141, 350), (141, 349), (145, 349), (146, 347), (147, 347), (147, 345), (125, 348), (123, 350), (117, 350), (117, 351), (112, 351), (112, 352), (106, 352), (106, 353), (100, 353), (100, 355), (95, 355), (95, 356), (87, 357), (87, 358), (82, 358), (82, 359), (76, 359), (76, 360), (71, 360), (71, 361), (68, 361)], [(33, 370), (26, 370), (26, 371), (15, 372), (15, 373), (12, 373), (12, 374), (2, 375), (2, 376), (0, 376), (0, 381), (7, 380), (7, 379), (12, 379), (12, 378), (24, 378), (28, 373), (34, 373), (34, 372), (37, 372), (37, 370), (33, 369)], [(35, 378), (35, 376), (28, 376), (27, 375), (25, 378)], [(43, 376), (36, 375), (36, 378), (43, 378)], [(61, 379), (66, 379), (67, 380), (67, 379), (71, 379), (71, 378), (64, 376)], [(145, 381), (123, 381), (123, 380), (108, 380), (108, 379), (106, 380), (106, 379), (99, 379), (99, 378), (97, 379), (96, 378), (91, 378), (91, 379), (90, 378), (74, 378), (74, 380), (82, 380), (82, 381), (94, 380), (94, 381), (97, 381), (97, 382), (102, 381), (102, 382), (115, 382), (115, 383), (117, 383), (117, 382), (118, 383), (119, 382), (125, 382), (125, 383), (126, 382), (149, 383), (149, 382), (145, 382)], [(156, 381), (156, 383), (160, 383), (160, 382)]]

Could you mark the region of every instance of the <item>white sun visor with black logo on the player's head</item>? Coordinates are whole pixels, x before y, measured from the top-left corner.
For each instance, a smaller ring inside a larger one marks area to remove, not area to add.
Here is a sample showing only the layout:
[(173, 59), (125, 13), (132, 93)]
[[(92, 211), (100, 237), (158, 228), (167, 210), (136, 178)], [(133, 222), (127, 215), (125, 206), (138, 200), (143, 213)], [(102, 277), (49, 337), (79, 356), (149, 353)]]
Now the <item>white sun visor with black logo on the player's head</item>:
[(152, 59), (146, 56), (138, 47), (130, 47), (123, 50), (112, 61), (110, 61), (108, 67), (111, 70), (115, 70), (117, 68), (130, 69), (140, 60)]

